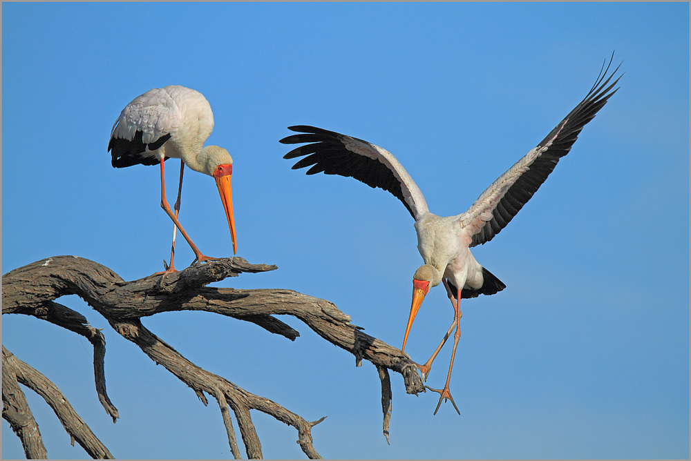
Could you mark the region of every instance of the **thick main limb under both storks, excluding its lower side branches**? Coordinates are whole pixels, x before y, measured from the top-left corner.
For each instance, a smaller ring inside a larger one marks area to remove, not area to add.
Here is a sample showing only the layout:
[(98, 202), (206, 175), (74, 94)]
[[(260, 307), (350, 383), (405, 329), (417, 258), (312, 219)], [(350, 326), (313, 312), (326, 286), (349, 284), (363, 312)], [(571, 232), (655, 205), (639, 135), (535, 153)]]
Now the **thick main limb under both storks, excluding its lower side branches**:
[[(23, 313), (43, 302), (77, 294), (109, 320), (140, 318), (169, 311), (207, 311), (253, 322), (271, 333), (294, 339), (298, 335), (272, 315), (299, 318), (328, 342), (372, 364), (401, 373), (407, 393), (424, 392), (415, 362), (350, 324), (350, 316), (330, 301), (292, 290), (200, 288), (238, 273), (271, 271), (276, 266), (249, 264), (240, 257), (191, 266), (166, 278), (146, 277), (124, 282), (110, 269), (75, 256), (56, 256), (28, 264), (3, 276), (3, 313)], [(24, 286), (30, 289), (23, 290)], [(197, 287), (197, 288), (195, 288)], [(32, 315), (31, 312), (28, 312)], [(258, 321), (261, 319), (261, 321)], [(279, 327), (280, 325), (280, 327)]]

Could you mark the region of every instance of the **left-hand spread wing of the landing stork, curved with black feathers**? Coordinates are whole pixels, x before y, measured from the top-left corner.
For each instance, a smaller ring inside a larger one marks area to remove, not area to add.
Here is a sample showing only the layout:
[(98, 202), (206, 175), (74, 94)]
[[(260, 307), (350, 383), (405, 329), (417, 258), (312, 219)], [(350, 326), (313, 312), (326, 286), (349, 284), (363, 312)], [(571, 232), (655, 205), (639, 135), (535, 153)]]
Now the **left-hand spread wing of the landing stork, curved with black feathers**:
[(292, 169), (312, 166), (307, 170), (307, 175), (323, 172), (326, 175), (352, 177), (372, 188), (388, 190), (403, 202), (415, 219), (428, 211), (425, 197), (417, 184), (388, 150), (362, 139), (314, 126), (290, 126), (288, 129), (300, 134), (285, 137), (281, 143), (311, 143), (283, 156), (284, 159), (307, 156), (294, 164)]

